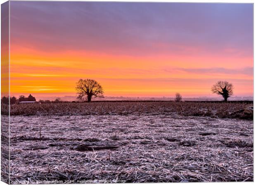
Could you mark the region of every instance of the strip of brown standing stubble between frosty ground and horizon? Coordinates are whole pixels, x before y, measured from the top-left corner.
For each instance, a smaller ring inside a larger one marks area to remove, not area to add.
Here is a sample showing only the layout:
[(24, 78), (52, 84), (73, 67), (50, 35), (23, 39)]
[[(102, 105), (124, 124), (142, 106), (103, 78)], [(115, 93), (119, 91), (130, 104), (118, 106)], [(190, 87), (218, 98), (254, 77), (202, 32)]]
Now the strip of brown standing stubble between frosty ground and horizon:
[[(2, 114), (8, 115), (2, 104)], [(213, 118), (253, 119), (253, 104), (207, 103), (207, 102), (92, 102), (92, 103), (46, 103), (14, 104), (11, 116), (85, 116), (85, 115), (173, 115), (210, 116)]]

